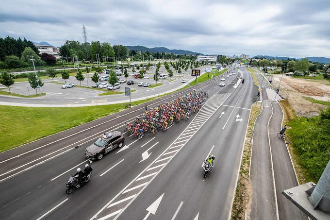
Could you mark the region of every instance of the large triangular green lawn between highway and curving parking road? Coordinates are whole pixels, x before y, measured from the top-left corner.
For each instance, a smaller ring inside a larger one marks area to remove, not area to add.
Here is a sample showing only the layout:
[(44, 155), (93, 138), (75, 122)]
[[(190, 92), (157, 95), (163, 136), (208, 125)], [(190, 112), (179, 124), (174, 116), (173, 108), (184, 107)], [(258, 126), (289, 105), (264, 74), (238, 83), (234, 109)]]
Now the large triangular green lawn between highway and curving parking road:
[[(138, 105), (153, 98), (132, 102)], [(0, 105), (0, 152), (55, 134), (122, 109), (126, 103), (86, 107), (20, 107)]]

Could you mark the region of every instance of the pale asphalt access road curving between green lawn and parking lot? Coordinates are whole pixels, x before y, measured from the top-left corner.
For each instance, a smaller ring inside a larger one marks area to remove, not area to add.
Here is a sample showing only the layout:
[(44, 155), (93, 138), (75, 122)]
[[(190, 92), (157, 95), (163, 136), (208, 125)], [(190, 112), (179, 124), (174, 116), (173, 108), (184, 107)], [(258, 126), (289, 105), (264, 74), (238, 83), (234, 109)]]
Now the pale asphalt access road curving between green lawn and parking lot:
[[(204, 69), (205, 67), (201, 67), (200, 69)], [(150, 70), (154, 71), (154, 70)], [(166, 71), (166, 70), (165, 70)], [(105, 74), (102, 74), (102, 76)], [(194, 76), (191, 74), (179, 74), (177, 77), (167, 77), (166, 79), (160, 79), (158, 83), (162, 83), (163, 85), (157, 86), (154, 88), (150, 87), (143, 87), (138, 86), (137, 84), (141, 81), (140, 79), (134, 79), (133, 76), (129, 76), (127, 80), (133, 80), (135, 85), (127, 85), (121, 84), (119, 89), (115, 91), (124, 92), (125, 87), (130, 87), (131, 90), (136, 90), (135, 92), (131, 93), (131, 100), (141, 100), (147, 97), (152, 97), (157, 94), (164, 94), (168, 91), (174, 91), (177, 88), (183, 87), (187, 85), (187, 83), (182, 83), (182, 79), (187, 79), (188, 82), (194, 79)], [(91, 81), (92, 73), (85, 75), (85, 79), (81, 82), (82, 86), (91, 87), (94, 83)], [(151, 85), (154, 85), (153, 76), (147, 74), (149, 79), (142, 80), (142, 82), (148, 82)], [(123, 76), (120, 77), (121, 79), (125, 78)], [(87, 82), (88, 81), (88, 82)], [(76, 87), (73, 88), (66, 88), (62, 89), (60, 84), (57, 83), (64, 83), (62, 78), (55, 78), (54, 82), (51, 79), (43, 80), (45, 82), (44, 86), (41, 87), (41, 92), (45, 92), (46, 96), (42, 97), (35, 97), (35, 98), (21, 98), (15, 96), (0, 96), (0, 104), (13, 104), (17, 105), (17, 103), (23, 106), (43, 106), (43, 107), (51, 107), (51, 106), (87, 106), (87, 105), (95, 105), (95, 104), (111, 104), (111, 103), (119, 103), (119, 102), (129, 102), (130, 98), (125, 96), (125, 94), (116, 94), (116, 95), (107, 95), (107, 96), (98, 96), (101, 93), (108, 92), (107, 88), (101, 90), (95, 89), (88, 89), (78, 87), (80, 82), (75, 79), (74, 76), (71, 76), (67, 83), (73, 83)], [(4, 86), (2, 86), (4, 87)], [(3, 88), (4, 91), (9, 91), (8, 88)], [(21, 94), (21, 95), (34, 95), (35, 89), (33, 89), (28, 82), (16, 83), (12, 86), (11, 92)], [(38, 91), (39, 92), (39, 91)]]

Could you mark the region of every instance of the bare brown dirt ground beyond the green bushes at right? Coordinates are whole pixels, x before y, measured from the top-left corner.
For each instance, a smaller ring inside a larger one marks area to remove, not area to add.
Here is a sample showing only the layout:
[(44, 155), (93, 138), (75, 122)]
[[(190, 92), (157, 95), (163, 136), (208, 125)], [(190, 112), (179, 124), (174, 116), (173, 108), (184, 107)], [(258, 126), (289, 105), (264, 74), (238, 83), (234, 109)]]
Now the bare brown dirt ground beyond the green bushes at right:
[[(279, 85), (280, 79), (281, 74), (273, 74), (272, 84), (274, 87)], [(330, 101), (330, 85), (329, 81), (326, 80), (298, 79), (283, 76), (280, 94), (288, 98), (297, 116), (314, 117), (320, 113), (320, 110), (327, 108), (327, 106), (309, 102), (303, 99), (303, 97)]]

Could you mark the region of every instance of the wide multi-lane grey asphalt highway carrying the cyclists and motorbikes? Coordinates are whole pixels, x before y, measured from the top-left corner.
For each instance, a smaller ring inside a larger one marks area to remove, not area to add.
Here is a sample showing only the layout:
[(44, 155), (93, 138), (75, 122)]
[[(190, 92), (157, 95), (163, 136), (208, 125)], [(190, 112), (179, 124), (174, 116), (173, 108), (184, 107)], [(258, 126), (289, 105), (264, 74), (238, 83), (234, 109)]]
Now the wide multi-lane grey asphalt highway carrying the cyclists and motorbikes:
[[(250, 74), (233, 71), (224, 76), (224, 87), (220, 78), (194, 87), (207, 90), (209, 98), (189, 121), (154, 137), (125, 135), (125, 146), (93, 162), (90, 182), (70, 195), (65, 182), (87, 163), (85, 148), (106, 131), (123, 132), (124, 122), (144, 107), (1, 153), (0, 219), (228, 219), (257, 91)], [(204, 179), (201, 165), (209, 153), (216, 156), (214, 171)]]

